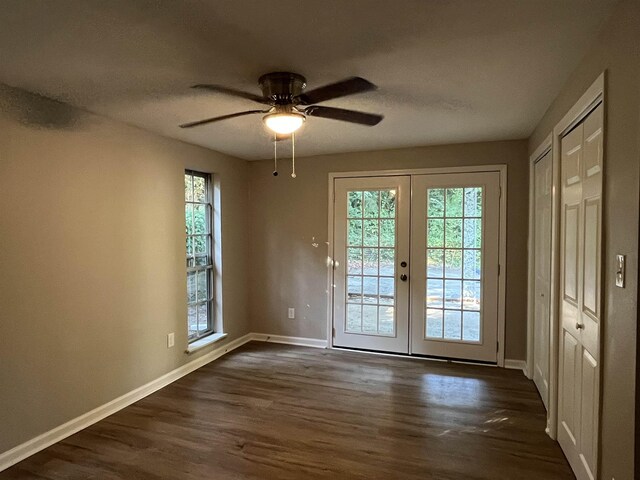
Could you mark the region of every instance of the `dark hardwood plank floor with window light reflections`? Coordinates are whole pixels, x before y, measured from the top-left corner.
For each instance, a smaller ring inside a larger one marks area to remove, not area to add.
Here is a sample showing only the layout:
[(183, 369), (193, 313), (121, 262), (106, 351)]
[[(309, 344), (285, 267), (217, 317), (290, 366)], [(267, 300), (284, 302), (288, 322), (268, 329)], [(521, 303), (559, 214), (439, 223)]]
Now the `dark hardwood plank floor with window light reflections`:
[(250, 343), (0, 479), (574, 476), (521, 372)]

